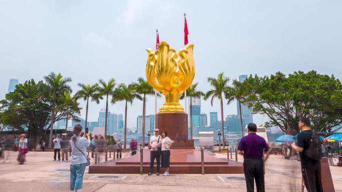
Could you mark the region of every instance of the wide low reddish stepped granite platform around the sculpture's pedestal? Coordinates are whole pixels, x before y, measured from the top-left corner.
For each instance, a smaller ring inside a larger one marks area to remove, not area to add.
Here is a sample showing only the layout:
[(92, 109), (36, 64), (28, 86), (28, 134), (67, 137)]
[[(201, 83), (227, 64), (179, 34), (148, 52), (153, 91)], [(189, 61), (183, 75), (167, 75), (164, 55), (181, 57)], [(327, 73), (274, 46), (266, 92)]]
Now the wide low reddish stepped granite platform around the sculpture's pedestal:
[[(170, 173), (171, 174), (201, 174), (200, 151), (189, 149), (171, 149)], [(178, 154), (181, 153), (181, 154)], [(155, 164), (155, 163), (154, 163)], [(155, 165), (153, 169), (154, 173)], [(149, 151), (143, 152), (143, 173), (149, 172)], [(89, 174), (139, 174), (140, 155), (115, 159), (89, 166)], [(160, 168), (164, 173), (164, 168)], [(212, 157), (204, 152), (204, 174), (243, 174), (242, 163), (227, 159)]]

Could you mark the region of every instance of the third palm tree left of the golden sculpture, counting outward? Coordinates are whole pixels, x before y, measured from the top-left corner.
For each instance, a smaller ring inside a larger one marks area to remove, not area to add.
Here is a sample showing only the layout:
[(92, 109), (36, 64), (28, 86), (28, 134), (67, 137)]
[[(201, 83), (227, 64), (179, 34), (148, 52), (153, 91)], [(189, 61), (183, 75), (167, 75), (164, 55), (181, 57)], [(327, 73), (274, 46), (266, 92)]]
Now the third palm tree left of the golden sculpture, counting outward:
[(98, 93), (101, 96), (105, 96), (105, 122), (104, 122), (104, 138), (107, 138), (107, 118), (108, 118), (108, 96), (114, 94), (115, 79), (109, 79), (108, 83), (102, 79), (99, 80)]

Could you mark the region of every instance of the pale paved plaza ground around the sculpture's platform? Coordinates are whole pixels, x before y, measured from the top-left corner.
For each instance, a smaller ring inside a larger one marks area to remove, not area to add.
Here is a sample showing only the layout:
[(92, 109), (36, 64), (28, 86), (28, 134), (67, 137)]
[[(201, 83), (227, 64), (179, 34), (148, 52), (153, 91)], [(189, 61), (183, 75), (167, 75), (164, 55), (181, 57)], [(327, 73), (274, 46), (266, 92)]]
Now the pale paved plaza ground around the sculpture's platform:
[[(0, 192), (67, 192), (69, 165), (52, 162), (53, 152), (29, 152), (25, 165), (17, 165), (11, 152), (0, 163)], [(216, 155), (225, 158), (225, 155)], [(234, 156), (233, 156), (234, 158)], [(239, 161), (242, 159), (239, 157)], [(300, 192), (300, 165), (295, 160), (272, 156), (266, 162), (267, 192)], [(336, 192), (342, 192), (342, 167), (330, 167)], [(87, 170), (86, 170), (87, 172)], [(156, 188), (157, 186), (157, 188)], [(245, 192), (243, 175), (97, 175), (85, 174), (81, 192)]]

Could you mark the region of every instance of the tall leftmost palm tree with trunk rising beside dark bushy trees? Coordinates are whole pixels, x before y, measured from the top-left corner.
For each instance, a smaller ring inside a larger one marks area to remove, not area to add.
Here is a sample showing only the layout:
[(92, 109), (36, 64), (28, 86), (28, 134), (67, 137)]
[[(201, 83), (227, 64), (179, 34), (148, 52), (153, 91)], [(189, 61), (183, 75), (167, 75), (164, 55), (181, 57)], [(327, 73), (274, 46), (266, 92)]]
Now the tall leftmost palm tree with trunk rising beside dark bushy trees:
[(68, 85), (71, 82), (71, 78), (65, 77), (58, 73), (55, 74), (51, 72), (47, 76), (44, 76), (45, 86), (44, 93), (46, 94), (48, 101), (51, 106), (51, 124), (50, 124), (50, 134), (48, 139), (48, 147), (52, 146), (52, 129), (54, 124), (54, 118), (57, 114), (57, 106), (61, 104), (61, 97), (64, 96), (64, 92), (71, 93), (71, 87)]

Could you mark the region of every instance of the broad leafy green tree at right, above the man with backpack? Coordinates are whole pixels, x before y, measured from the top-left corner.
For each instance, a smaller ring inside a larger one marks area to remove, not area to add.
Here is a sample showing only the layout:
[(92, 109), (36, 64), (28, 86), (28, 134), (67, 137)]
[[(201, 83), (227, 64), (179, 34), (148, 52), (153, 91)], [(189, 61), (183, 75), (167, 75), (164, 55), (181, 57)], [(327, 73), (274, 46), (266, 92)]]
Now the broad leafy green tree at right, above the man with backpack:
[(342, 86), (333, 75), (316, 71), (289, 74), (281, 72), (259, 77), (249, 76), (241, 86), (246, 87), (245, 101), (254, 113), (265, 114), (265, 126), (279, 126), (290, 135), (298, 133), (298, 121), (308, 117), (319, 132), (331, 131), (342, 123)]

